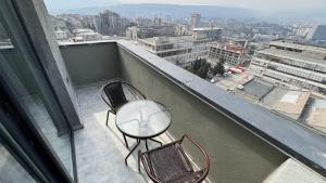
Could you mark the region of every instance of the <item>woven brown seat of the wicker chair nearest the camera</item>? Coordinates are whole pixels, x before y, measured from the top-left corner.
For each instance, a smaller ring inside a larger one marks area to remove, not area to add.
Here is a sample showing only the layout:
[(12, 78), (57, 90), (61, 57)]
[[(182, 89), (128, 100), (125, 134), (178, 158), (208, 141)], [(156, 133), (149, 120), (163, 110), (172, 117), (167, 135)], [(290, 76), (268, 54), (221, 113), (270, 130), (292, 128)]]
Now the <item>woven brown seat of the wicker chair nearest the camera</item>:
[(145, 157), (150, 164), (151, 174), (162, 182), (170, 183), (178, 179), (183, 181), (188, 175), (196, 174), (179, 143), (148, 152)]

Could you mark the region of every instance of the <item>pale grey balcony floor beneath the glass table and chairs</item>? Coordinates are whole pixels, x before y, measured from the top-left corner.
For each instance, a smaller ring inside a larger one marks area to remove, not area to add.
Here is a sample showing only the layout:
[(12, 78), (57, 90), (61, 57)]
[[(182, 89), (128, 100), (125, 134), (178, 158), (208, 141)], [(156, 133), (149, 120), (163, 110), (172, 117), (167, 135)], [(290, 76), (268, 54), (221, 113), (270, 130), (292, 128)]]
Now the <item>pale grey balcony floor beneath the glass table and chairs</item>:
[[(103, 83), (80, 87), (77, 90), (78, 105), (85, 128), (75, 132), (76, 159), (79, 183), (145, 183), (151, 182), (142, 170), (137, 170), (137, 151), (124, 162), (128, 149), (115, 127), (114, 115), (110, 114), (109, 128), (105, 126), (108, 106), (100, 96)], [(168, 142), (166, 134), (158, 140)], [(136, 140), (128, 139), (129, 146)], [(151, 142), (149, 142), (151, 143)], [(156, 144), (149, 144), (155, 146)], [(143, 151), (145, 145), (140, 148)]]

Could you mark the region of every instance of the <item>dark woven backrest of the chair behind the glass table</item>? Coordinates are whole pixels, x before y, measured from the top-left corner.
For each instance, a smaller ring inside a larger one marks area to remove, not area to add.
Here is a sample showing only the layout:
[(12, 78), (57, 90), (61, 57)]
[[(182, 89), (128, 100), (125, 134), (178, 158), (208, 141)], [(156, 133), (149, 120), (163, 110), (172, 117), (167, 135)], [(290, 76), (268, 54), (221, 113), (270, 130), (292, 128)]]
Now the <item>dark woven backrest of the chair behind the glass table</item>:
[(103, 92), (110, 100), (111, 107), (113, 107), (114, 110), (116, 109), (116, 107), (121, 107), (128, 102), (126, 100), (122, 82), (120, 81), (108, 83), (103, 88)]

